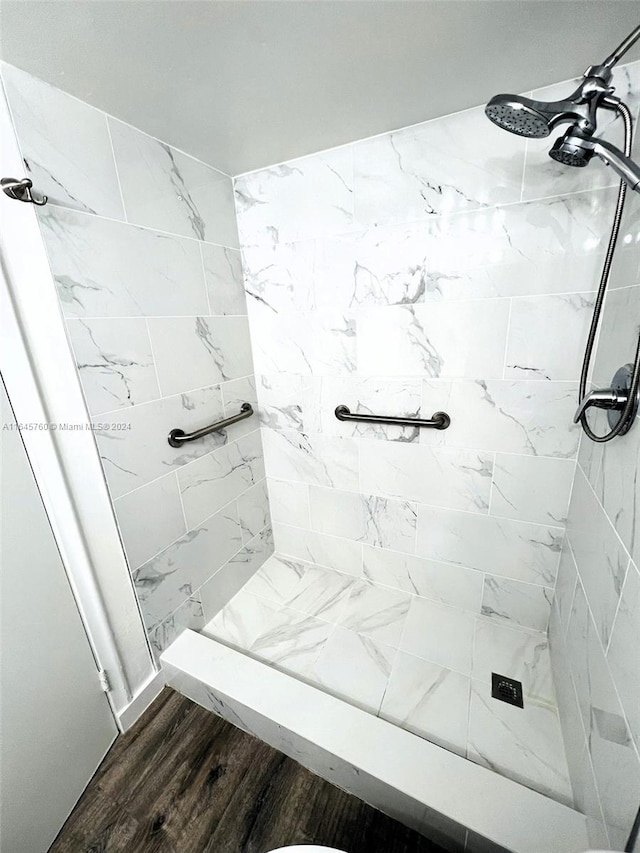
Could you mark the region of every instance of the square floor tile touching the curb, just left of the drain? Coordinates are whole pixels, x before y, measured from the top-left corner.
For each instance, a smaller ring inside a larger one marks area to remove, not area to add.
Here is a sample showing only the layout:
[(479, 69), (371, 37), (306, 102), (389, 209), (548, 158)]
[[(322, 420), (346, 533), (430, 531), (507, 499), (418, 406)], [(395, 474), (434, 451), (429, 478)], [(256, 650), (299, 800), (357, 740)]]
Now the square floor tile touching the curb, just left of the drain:
[(398, 652), (380, 716), (466, 757), (469, 678)]

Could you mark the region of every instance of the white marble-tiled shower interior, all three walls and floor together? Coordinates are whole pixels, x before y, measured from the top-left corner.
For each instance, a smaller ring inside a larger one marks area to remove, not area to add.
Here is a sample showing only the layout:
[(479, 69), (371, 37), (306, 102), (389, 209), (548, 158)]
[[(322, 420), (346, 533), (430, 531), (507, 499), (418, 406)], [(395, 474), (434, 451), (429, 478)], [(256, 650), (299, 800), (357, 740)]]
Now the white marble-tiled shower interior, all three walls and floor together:
[[(479, 106), (232, 180), (2, 75), (155, 652), (202, 630), (622, 847), (640, 429), (603, 449), (573, 424), (615, 175), (559, 166)], [(614, 82), (637, 117), (640, 63)], [(639, 212), (596, 384), (633, 352)], [(257, 417), (168, 445), (245, 402)], [(353, 426), (340, 404), (451, 426)], [(523, 709), (491, 698), (492, 672)]]

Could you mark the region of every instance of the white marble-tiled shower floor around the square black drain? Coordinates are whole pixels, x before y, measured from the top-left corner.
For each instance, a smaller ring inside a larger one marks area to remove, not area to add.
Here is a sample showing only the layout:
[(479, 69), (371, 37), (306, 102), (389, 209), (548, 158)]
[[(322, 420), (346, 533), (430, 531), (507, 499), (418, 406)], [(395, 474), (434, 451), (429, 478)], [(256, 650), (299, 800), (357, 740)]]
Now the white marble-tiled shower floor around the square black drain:
[(572, 805), (545, 634), (277, 554), (203, 633)]

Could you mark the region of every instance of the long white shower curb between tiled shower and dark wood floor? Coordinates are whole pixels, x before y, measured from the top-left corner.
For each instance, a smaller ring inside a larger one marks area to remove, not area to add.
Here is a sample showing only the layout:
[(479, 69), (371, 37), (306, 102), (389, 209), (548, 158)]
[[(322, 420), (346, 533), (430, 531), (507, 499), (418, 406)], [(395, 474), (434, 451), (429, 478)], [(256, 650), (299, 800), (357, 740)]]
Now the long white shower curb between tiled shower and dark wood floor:
[(455, 853), (580, 853), (583, 814), (187, 630), (167, 683)]

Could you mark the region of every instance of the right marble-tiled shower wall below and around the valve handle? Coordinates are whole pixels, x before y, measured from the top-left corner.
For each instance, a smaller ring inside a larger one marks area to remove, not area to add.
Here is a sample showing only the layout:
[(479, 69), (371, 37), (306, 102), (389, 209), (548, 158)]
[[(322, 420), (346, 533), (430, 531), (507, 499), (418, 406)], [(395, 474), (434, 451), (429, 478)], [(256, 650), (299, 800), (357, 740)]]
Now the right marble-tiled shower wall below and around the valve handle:
[[(640, 146), (636, 145), (636, 156)], [(640, 330), (640, 196), (628, 198), (593, 369), (606, 387)], [(590, 415), (595, 431), (608, 427)], [(550, 648), (577, 806), (591, 843), (624, 849), (640, 804), (640, 423), (606, 444), (582, 438)]]

